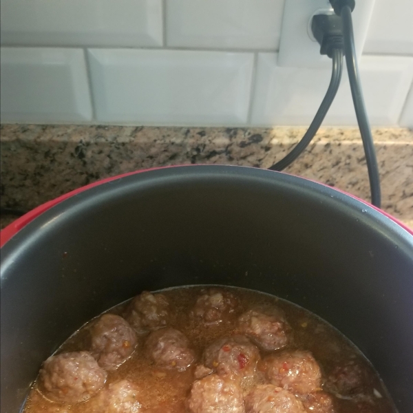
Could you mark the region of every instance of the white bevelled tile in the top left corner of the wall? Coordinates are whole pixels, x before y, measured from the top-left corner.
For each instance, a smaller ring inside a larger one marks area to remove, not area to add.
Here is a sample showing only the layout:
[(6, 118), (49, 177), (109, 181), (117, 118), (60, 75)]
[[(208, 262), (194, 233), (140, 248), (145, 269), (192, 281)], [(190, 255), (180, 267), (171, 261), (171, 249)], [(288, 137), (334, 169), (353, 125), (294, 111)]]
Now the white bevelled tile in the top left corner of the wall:
[(160, 46), (161, 0), (1, 0), (2, 45)]

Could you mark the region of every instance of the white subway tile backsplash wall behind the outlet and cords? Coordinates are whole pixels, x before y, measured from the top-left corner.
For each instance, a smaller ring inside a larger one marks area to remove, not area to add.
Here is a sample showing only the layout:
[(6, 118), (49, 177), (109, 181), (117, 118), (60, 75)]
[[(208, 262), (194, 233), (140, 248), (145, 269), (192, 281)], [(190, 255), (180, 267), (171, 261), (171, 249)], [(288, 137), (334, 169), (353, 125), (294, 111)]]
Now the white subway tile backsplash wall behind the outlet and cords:
[[(330, 69), (277, 65), (283, 10), (284, 0), (2, 0), (1, 122), (308, 125)], [(412, 15), (411, 0), (375, 1), (360, 61), (372, 125), (413, 127)], [(346, 73), (324, 124), (357, 125)]]

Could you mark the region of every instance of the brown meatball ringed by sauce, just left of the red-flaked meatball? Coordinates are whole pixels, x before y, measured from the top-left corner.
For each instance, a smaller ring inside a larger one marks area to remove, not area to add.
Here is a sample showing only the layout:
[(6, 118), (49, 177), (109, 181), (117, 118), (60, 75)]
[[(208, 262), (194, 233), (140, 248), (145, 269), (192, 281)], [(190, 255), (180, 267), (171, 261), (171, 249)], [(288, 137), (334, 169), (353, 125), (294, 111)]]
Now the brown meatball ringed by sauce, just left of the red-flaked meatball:
[(195, 361), (195, 352), (182, 332), (173, 328), (153, 331), (145, 344), (147, 357), (162, 368), (187, 370)]

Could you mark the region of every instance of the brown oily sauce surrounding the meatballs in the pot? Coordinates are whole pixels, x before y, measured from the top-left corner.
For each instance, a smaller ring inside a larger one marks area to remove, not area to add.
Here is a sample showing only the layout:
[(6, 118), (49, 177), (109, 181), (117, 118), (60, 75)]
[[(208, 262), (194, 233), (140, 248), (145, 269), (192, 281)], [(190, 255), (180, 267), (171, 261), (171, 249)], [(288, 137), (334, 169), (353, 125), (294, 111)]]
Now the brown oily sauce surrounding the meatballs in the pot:
[[(202, 286), (189, 286), (162, 290), (172, 304), (173, 317), (169, 326), (184, 333), (197, 353), (198, 360), (202, 352), (215, 339), (233, 335), (235, 326), (222, 324), (218, 326), (200, 326), (189, 316), (196, 299), (200, 296)], [(330, 394), (334, 399), (337, 413), (363, 412), (361, 405), (366, 405), (368, 413), (394, 413), (392, 401), (388, 397), (385, 387), (374, 372), (370, 363), (363, 354), (335, 328), (330, 326), (308, 310), (296, 306), (284, 299), (242, 288), (220, 287), (230, 289), (240, 299), (240, 313), (252, 306), (275, 305), (281, 308), (288, 323), (293, 329), (293, 341), (288, 346), (289, 350), (309, 350), (321, 366), (324, 377), (327, 377), (332, 369), (341, 362), (357, 360), (368, 376), (366, 394), (356, 397), (343, 398)], [(121, 314), (127, 303), (108, 310), (109, 313)], [(88, 350), (85, 347), (88, 334), (85, 324), (72, 335), (59, 348), (56, 354), (71, 351)], [(128, 379), (140, 388), (140, 403), (147, 407), (150, 413), (186, 413), (184, 401), (189, 394), (191, 385), (195, 380), (192, 366), (184, 372), (174, 370), (162, 370), (157, 368), (152, 361), (145, 357), (142, 351), (145, 337), (140, 337), (140, 344), (134, 354), (123, 363), (116, 371), (109, 372), (107, 384), (119, 379)], [(266, 356), (261, 352), (262, 357)], [(62, 413), (92, 413), (89, 401), (76, 405), (64, 406), (52, 403), (45, 399), (34, 382), (32, 390), (25, 403), (23, 413), (34, 412), (62, 412)]]

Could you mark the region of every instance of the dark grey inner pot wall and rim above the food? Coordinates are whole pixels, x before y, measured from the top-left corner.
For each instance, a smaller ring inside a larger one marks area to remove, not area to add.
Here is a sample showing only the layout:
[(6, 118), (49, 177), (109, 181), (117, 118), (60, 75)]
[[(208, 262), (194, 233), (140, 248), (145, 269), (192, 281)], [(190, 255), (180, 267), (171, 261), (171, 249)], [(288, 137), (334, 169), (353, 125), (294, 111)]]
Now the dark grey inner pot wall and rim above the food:
[(41, 362), (85, 321), (143, 289), (187, 284), (253, 288), (313, 311), (413, 412), (413, 235), (381, 211), (226, 166), (145, 171), (65, 198), (1, 248), (2, 413), (19, 411)]

